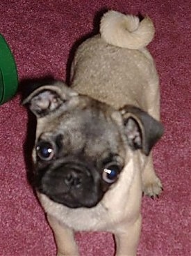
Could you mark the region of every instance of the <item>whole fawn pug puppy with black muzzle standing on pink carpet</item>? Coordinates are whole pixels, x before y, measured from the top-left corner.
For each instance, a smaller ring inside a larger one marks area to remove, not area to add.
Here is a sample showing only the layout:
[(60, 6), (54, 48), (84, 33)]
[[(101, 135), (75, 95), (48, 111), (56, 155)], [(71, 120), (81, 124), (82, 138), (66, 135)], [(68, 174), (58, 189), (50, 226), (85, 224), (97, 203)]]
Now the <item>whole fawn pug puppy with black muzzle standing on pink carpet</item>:
[(78, 255), (82, 230), (112, 232), (116, 255), (136, 255), (142, 192), (162, 190), (151, 156), (163, 135), (153, 35), (149, 17), (108, 11), (78, 47), (70, 86), (46, 83), (24, 100), (37, 117), (34, 187), (59, 256)]

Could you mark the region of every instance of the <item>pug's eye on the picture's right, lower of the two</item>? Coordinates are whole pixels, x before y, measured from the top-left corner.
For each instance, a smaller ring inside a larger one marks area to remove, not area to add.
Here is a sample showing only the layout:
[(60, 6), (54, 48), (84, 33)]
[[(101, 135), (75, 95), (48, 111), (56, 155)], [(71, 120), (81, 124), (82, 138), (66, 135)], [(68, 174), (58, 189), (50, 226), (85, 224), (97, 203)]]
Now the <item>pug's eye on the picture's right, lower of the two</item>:
[(107, 183), (114, 183), (119, 174), (119, 166), (117, 165), (109, 165), (103, 169), (102, 179)]

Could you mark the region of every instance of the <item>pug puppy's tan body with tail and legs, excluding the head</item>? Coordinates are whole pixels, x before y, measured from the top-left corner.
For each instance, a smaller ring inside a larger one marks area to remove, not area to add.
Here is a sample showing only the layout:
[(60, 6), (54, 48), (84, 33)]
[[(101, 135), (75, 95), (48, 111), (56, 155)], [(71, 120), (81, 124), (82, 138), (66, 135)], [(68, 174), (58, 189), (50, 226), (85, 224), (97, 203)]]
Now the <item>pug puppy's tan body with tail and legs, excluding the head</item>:
[[(131, 15), (106, 13), (101, 20), (101, 35), (86, 40), (76, 52), (72, 88), (116, 110), (126, 104), (135, 105), (159, 119), (158, 75), (151, 54), (143, 48), (153, 33), (149, 18), (139, 22)], [(116, 255), (136, 255), (142, 186), (149, 195), (161, 190), (151, 155), (147, 158), (129, 149), (119, 180), (91, 209), (70, 209), (38, 193), (55, 233), (58, 255), (78, 255), (73, 230), (113, 232)]]

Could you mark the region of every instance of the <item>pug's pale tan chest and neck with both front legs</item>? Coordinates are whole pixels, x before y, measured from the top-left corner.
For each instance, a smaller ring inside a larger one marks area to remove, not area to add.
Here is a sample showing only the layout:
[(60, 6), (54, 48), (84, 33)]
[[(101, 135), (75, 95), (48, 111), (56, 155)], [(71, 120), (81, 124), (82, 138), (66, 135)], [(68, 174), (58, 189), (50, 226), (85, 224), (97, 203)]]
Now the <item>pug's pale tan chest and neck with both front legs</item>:
[[(119, 243), (116, 255), (136, 254), (140, 236), (142, 197), (141, 174), (137, 170), (142, 170), (143, 162), (139, 160), (139, 151), (129, 151), (128, 158), (130, 160), (122, 170), (119, 181), (106, 193), (101, 202), (91, 209), (69, 209), (53, 202), (46, 195), (38, 194), (49, 216), (48, 220), (51, 218), (49, 223), (55, 232), (59, 256), (78, 255), (74, 236), (68, 234), (72, 230), (112, 232)], [(68, 247), (70, 250), (67, 250)]]

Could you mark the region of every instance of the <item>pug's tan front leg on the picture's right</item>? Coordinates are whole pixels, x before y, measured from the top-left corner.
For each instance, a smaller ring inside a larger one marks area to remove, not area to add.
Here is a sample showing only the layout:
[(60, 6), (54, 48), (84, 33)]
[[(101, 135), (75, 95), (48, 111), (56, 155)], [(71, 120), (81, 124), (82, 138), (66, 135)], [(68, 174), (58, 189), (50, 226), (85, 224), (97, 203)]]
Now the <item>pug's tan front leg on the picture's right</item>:
[(115, 256), (135, 256), (137, 254), (142, 223), (141, 215), (132, 224), (123, 225), (115, 232)]

